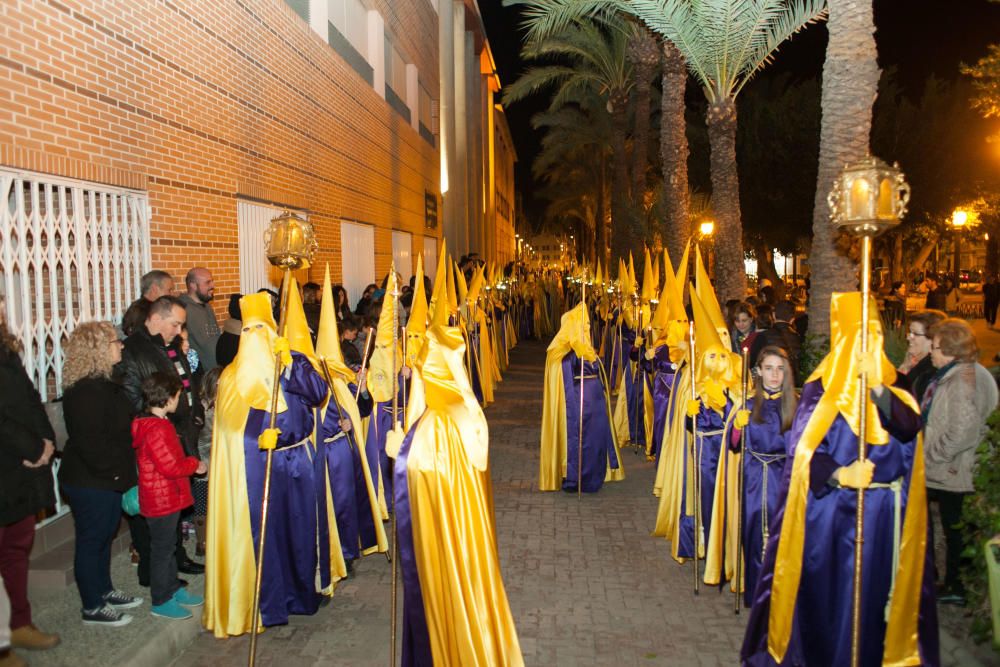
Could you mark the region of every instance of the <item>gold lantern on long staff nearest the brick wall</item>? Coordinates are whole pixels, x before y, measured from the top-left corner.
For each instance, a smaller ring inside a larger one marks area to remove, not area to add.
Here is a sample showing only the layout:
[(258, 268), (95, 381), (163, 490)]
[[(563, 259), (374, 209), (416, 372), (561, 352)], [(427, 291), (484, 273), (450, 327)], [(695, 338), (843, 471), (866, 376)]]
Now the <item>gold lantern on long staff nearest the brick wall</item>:
[[(267, 248), (267, 260), (283, 272), (281, 279), (280, 311), (278, 318), (278, 336), (285, 335), (285, 323), (288, 319), (285, 311), (288, 307), (288, 290), (292, 271), (309, 268), (313, 255), (319, 248), (312, 225), (289, 211), (282, 212), (271, 220), (264, 232), (264, 246)], [(268, 433), (274, 433), (277, 423), (278, 392), (281, 391), (281, 352), (274, 353), (274, 375), (271, 384), (271, 410), (268, 416)], [(261, 449), (267, 452), (264, 462), (264, 494), (260, 512), (260, 538), (257, 549), (257, 574), (253, 587), (252, 624), (250, 628), (249, 665), (253, 667), (257, 653), (257, 631), (260, 628), (260, 584), (264, 574), (264, 545), (267, 540), (267, 510), (271, 499), (271, 459), (274, 454), (275, 442), (263, 438)]]

